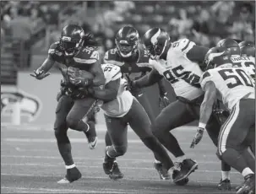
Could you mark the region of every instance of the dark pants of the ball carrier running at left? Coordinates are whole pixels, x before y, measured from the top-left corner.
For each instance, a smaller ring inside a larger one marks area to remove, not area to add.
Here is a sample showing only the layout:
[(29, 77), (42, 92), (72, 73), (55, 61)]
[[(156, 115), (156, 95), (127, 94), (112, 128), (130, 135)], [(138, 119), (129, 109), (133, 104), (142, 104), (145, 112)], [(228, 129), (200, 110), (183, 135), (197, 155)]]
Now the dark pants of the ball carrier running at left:
[(59, 152), (66, 165), (74, 164), (67, 136), (68, 127), (77, 131), (83, 131), (87, 125), (81, 120), (94, 102), (95, 100), (92, 98), (72, 100), (67, 95), (63, 95), (57, 102), (54, 131)]

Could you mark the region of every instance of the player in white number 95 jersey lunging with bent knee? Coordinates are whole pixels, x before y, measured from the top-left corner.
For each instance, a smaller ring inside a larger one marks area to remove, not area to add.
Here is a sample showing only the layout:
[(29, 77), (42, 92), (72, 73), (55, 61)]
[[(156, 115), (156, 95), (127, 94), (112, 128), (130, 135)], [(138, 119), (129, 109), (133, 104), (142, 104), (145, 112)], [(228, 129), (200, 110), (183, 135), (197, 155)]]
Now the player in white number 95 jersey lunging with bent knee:
[[(152, 125), (152, 130), (160, 142), (177, 158), (176, 164), (180, 166), (182, 175), (187, 177), (198, 168), (198, 164), (192, 159), (186, 159), (170, 130), (199, 118), (199, 105), (204, 98), (204, 92), (199, 85), (199, 78), (203, 73), (199, 63), (204, 62), (204, 55), (209, 49), (196, 46), (188, 39), (172, 42), (166, 31), (160, 28), (148, 30), (143, 43), (150, 51), (153, 70), (144, 78), (134, 80), (131, 85), (139, 88), (149, 86), (162, 77), (172, 84), (177, 100), (161, 111), (156, 117), (155, 125)], [(211, 116), (207, 130), (215, 146), (220, 128), (215, 116)], [(174, 182), (179, 180), (179, 177), (176, 177)]]

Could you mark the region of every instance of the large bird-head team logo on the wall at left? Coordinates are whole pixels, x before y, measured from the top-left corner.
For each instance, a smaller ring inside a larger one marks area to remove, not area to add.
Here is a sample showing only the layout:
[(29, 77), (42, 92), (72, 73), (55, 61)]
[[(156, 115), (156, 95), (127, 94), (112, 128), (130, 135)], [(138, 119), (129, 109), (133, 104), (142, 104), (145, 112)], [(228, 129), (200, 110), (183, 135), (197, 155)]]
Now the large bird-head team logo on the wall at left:
[(35, 95), (25, 93), (20, 89), (2, 89), (1, 90), (1, 117), (9, 119), (14, 112), (14, 104), (19, 103), (20, 116), (25, 121), (34, 121), (41, 112), (41, 100)]

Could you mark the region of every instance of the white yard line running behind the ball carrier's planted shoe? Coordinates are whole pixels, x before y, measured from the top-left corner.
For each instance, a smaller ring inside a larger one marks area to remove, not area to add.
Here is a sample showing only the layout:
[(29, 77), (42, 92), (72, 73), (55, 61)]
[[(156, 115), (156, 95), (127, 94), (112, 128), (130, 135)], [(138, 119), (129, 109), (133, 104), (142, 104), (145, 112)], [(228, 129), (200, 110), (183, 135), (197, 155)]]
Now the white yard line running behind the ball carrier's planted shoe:
[[(14, 176), (28, 176), (28, 177), (63, 177), (61, 175), (32, 175), (32, 174), (17, 174), (17, 173), (1, 173), (1, 175), (14, 175)], [(3, 178), (2, 178), (3, 179)], [(101, 180), (110, 180), (110, 178), (106, 175), (106, 176), (82, 176), (81, 179), (79, 180), (93, 180), (93, 179), (101, 179)], [(124, 181), (153, 181), (153, 182), (161, 182), (163, 180), (159, 180), (159, 179), (148, 179), (148, 178), (134, 178), (134, 176), (130, 176), (130, 175), (125, 175), (124, 178), (122, 179)], [(213, 182), (213, 181), (194, 181), (195, 183), (214, 183), (214, 184), (219, 184), (219, 182)], [(237, 182), (232, 182), (232, 185), (239, 185), (241, 184), (241, 182), (237, 183)], [(3, 188), (3, 186), (1, 186), (1, 188)], [(220, 192), (219, 192), (220, 193)]]

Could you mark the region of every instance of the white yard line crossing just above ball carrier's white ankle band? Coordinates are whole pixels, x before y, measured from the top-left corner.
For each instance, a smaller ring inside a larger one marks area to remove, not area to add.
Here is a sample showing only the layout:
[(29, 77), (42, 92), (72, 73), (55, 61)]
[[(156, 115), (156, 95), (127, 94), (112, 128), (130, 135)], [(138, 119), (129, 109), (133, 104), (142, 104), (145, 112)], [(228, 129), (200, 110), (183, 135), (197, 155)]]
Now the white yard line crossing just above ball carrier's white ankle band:
[[(103, 156), (102, 156), (103, 157)], [(84, 159), (84, 160), (101, 160), (101, 158), (86, 158), (86, 157), (74, 157), (74, 159)], [(60, 157), (57, 156), (35, 156), (35, 155), (3, 155), (1, 154), (1, 159), (3, 162), (4, 158), (21, 158), (21, 159), (59, 159)], [(140, 161), (144, 163), (153, 163), (154, 159), (117, 159), (118, 161)], [(198, 163), (204, 163), (204, 164), (220, 164), (221, 161), (197, 161)]]

